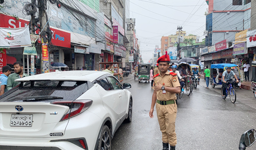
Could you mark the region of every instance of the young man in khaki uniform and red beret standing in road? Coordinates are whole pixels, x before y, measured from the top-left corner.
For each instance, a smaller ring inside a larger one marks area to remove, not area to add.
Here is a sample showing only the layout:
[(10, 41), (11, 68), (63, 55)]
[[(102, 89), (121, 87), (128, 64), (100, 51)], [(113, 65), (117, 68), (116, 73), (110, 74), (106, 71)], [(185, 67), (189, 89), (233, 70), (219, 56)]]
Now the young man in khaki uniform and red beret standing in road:
[(154, 76), (154, 93), (152, 96), (150, 118), (153, 118), (154, 106), (156, 103), (156, 113), (160, 130), (162, 132), (163, 150), (175, 150), (177, 137), (175, 133), (175, 119), (177, 115), (176, 93), (180, 93), (180, 83), (176, 73), (168, 72), (169, 55), (167, 52), (161, 56), (159, 63), (160, 73)]

